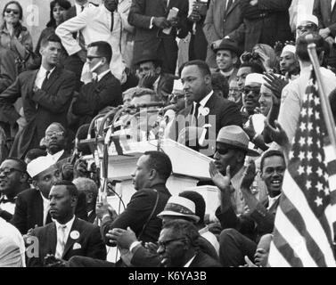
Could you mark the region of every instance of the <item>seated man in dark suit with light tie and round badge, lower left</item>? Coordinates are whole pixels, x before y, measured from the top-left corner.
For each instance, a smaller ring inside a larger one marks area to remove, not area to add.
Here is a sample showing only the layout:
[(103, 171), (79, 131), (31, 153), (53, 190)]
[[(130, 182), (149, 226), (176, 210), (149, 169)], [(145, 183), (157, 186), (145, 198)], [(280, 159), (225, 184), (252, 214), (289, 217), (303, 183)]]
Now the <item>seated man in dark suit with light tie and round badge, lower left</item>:
[(28, 256), (29, 267), (55, 265), (71, 256), (106, 259), (106, 248), (99, 227), (75, 216), (78, 190), (73, 183), (55, 183), (49, 193), (53, 223), (34, 229), (29, 235), (38, 239), (38, 257)]

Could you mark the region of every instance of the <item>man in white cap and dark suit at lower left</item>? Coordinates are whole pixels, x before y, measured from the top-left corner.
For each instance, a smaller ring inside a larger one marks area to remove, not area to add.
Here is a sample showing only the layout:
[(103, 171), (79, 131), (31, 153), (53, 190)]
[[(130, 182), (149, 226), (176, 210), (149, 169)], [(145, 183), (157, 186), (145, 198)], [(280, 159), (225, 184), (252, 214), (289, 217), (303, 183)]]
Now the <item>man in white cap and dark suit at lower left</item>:
[[(60, 171), (50, 157), (39, 157), (32, 160), (27, 166), (27, 172), (32, 178), (34, 188), (20, 192), (11, 221), (22, 234), (36, 226), (51, 223), (49, 192), (53, 183), (61, 179)], [(76, 213), (81, 218), (87, 218), (85, 203), (78, 203)]]

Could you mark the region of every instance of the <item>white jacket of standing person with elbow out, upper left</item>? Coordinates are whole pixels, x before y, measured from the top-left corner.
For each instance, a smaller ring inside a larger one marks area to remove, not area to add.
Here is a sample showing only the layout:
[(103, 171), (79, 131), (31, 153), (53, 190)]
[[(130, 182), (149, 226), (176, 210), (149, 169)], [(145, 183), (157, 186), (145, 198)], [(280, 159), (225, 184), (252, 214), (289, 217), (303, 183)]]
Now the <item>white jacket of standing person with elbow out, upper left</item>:
[[(119, 80), (123, 77), (125, 63), (120, 53), (121, 20), (119, 12), (113, 12), (113, 31), (111, 32), (111, 12), (103, 4), (96, 7), (89, 5), (75, 18), (66, 20), (56, 28), (57, 36), (61, 37), (61, 44), (69, 55), (82, 50), (78, 41), (72, 37), (73, 33), (81, 32), (86, 46), (96, 41), (108, 42), (112, 47), (111, 73)], [(87, 63), (83, 73), (87, 72)]]

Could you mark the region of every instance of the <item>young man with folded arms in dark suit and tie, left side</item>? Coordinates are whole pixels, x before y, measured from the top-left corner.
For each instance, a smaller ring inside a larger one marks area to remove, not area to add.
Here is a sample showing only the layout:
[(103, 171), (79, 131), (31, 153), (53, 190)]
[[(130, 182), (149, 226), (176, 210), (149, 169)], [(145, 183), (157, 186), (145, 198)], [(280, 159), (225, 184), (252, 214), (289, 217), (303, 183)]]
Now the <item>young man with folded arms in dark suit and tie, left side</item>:
[(57, 64), (61, 54), (61, 40), (52, 35), (42, 40), (42, 63), (38, 70), (22, 72), (0, 94), (0, 121), (15, 124), (20, 118), (13, 103), (22, 99), (27, 125), (15, 138), (10, 155), (23, 159), (27, 151), (37, 148), (45, 129), (53, 122), (67, 127), (67, 113), (75, 87), (75, 76), (60, 69)]

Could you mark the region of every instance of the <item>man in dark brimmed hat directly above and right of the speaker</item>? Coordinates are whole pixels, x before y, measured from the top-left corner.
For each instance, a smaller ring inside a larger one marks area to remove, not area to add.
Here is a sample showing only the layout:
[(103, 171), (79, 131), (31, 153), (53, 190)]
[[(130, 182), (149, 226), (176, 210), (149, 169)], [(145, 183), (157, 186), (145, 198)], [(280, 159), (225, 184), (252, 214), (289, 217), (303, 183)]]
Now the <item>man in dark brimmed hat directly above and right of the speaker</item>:
[(236, 81), (236, 65), (242, 54), (241, 49), (233, 41), (225, 38), (219, 45), (213, 45), (213, 50), (216, 53), (218, 71), (226, 77), (229, 84)]

